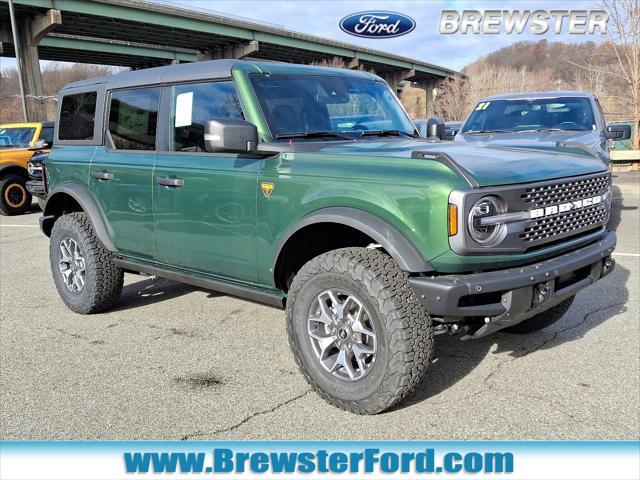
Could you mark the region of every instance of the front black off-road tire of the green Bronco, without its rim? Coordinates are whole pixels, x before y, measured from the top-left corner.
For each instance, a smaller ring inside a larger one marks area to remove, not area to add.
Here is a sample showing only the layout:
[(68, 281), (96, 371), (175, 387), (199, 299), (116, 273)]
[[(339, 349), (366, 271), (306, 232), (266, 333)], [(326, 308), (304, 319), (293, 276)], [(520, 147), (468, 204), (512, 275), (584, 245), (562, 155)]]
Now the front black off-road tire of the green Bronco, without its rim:
[[(342, 288), (366, 306), (378, 336), (377, 357), (364, 378), (347, 382), (322, 368), (307, 333), (311, 302), (323, 289)], [(433, 349), (433, 327), (408, 275), (377, 250), (344, 248), (309, 261), (288, 293), (287, 333), (296, 363), (326, 401), (357, 414), (389, 409), (423, 380)]]

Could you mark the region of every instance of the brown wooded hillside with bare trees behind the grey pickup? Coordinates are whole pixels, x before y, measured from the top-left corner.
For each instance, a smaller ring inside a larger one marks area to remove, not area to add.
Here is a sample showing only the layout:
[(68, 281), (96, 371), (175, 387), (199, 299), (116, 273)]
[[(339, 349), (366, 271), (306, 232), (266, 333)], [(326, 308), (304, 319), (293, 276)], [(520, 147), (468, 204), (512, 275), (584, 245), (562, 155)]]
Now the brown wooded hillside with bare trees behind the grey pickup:
[(602, 0), (609, 12), (604, 41), (523, 41), (480, 57), (460, 77), (442, 85), (435, 113), (462, 120), (483, 97), (507, 92), (586, 90), (595, 94), (607, 121), (635, 124), (640, 148), (640, 1)]

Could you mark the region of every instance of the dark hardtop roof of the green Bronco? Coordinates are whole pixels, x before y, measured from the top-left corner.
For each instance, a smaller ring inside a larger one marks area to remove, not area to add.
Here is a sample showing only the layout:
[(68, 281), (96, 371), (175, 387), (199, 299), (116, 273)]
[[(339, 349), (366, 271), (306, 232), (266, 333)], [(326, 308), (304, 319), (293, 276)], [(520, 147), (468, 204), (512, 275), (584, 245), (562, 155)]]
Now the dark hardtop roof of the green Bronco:
[(159, 83), (197, 81), (206, 79), (229, 78), (234, 66), (244, 64), (255, 68), (256, 72), (277, 72), (279, 70), (296, 70), (308, 73), (331, 73), (336, 74), (339, 70), (341, 74), (356, 76), (360, 78), (379, 77), (367, 72), (359, 70), (335, 69), (329, 67), (316, 67), (309, 65), (289, 64), (280, 62), (254, 62), (246, 60), (208, 60), (203, 62), (183, 63), (180, 65), (167, 65), (164, 67), (147, 68), (144, 70), (134, 70), (132, 72), (123, 72), (116, 75), (107, 75), (104, 77), (89, 78), (87, 80), (79, 80), (64, 86), (62, 91), (89, 87), (92, 85), (105, 84), (106, 88), (116, 89), (124, 87), (135, 87), (143, 85), (154, 85)]

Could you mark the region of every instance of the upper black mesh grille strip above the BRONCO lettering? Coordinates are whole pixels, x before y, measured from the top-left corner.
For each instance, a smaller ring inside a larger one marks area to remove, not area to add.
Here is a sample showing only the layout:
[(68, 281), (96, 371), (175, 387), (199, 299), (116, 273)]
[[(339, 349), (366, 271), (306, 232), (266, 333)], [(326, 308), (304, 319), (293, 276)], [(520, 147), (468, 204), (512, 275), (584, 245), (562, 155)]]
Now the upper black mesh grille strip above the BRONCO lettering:
[(535, 208), (572, 202), (604, 194), (609, 187), (609, 174), (527, 188), (521, 200)]

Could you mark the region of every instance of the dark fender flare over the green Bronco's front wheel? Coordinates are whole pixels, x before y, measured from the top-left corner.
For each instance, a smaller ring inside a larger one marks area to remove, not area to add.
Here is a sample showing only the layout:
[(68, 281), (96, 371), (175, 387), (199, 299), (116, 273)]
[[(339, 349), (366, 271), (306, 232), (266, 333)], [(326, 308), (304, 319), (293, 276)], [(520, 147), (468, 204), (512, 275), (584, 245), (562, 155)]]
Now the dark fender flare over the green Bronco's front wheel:
[(396, 261), (398, 266), (410, 273), (433, 271), (415, 245), (396, 227), (380, 217), (364, 210), (351, 207), (329, 207), (315, 210), (300, 219), (282, 237), (272, 264), (272, 272), (276, 272), (276, 263), (287, 241), (302, 228), (315, 223), (339, 223), (355, 228), (380, 244)]

